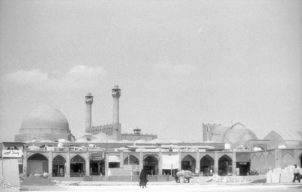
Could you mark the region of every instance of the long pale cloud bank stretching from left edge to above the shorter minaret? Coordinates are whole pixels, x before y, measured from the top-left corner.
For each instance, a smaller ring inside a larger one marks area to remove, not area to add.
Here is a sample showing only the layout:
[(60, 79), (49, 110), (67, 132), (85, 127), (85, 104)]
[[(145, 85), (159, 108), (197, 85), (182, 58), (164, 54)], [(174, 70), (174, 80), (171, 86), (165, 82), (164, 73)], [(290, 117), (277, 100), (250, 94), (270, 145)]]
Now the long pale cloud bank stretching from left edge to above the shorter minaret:
[(50, 77), (47, 73), (41, 73), (39, 70), (34, 69), (6, 74), (4, 80), (15, 84), (39, 86), (41, 89), (71, 90), (96, 86), (106, 79), (106, 74), (107, 71), (101, 67), (78, 65), (67, 72), (60, 72), (56, 77)]

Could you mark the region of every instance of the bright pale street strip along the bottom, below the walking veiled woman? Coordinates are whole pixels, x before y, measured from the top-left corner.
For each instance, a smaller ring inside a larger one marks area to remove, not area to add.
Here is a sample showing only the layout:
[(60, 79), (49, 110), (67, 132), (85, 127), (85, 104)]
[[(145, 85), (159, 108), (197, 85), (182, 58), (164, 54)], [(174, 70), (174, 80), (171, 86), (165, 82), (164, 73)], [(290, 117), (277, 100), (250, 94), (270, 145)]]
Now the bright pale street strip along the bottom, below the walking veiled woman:
[[(26, 188), (24, 188), (26, 187)], [(138, 185), (98, 185), (98, 186), (23, 186), (22, 189), (32, 192), (39, 191), (173, 191), (173, 192), (199, 192), (199, 191), (232, 191), (232, 192), (269, 192), (269, 191), (291, 191), (300, 192), (302, 185), (217, 185), (217, 184), (177, 184), (177, 185), (148, 185), (142, 189)]]

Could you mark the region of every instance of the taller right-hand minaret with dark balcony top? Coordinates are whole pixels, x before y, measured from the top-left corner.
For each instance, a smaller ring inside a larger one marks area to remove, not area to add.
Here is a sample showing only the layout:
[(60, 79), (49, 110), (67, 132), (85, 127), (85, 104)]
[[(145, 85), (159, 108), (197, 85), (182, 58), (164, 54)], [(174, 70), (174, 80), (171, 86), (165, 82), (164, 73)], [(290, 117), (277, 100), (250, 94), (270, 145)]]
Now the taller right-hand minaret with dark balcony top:
[(119, 119), (118, 119), (118, 99), (120, 98), (120, 89), (118, 85), (114, 86), (112, 89), (112, 97), (113, 97), (113, 118), (112, 118), (112, 139), (119, 140), (118, 134), (120, 132), (119, 129)]

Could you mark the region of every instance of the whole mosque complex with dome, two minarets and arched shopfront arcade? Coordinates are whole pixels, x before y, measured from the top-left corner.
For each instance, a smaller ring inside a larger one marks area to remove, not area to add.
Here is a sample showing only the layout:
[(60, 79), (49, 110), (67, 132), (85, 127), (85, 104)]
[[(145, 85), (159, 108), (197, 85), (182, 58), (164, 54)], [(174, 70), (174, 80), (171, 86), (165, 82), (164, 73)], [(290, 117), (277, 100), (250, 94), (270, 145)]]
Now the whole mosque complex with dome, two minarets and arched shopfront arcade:
[[(265, 174), (268, 169), (302, 164), (301, 131), (271, 131), (258, 140), (240, 123), (202, 124), (202, 142), (162, 140), (156, 134), (141, 134), (139, 128), (133, 134), (123, 134), (117, 85), (111, 95), (113, 121), (103, 126), (92, 126), (93, 96), (85, 96), (86, 125), (80, 134), (71, 133), (59, 110), (38, 106), (24, 117), (15, 142), (2, 143), (0, 158), (17, 158), (21, 175), (46, 171), (54, 177), (110, 175), (115, 169), (123, 170), (124, 165), (137, 165), (150, 175), (171, 174), (171, 169), (246, 175), (248, 170)], [(23, 156), (11, 150), (20, 150)]]

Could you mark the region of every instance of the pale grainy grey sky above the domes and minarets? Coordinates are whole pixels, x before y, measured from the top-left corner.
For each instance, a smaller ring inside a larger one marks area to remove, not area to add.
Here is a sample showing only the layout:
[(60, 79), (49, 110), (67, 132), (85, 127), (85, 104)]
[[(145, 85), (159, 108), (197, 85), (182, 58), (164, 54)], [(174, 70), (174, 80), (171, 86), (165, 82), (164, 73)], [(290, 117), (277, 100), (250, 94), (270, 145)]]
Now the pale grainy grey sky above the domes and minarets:
[(0, 1), (0, 141), (37, 105), (85, 132), (202, 141), (202, 123), (258, 139), (302, 127), (301, 1)]

